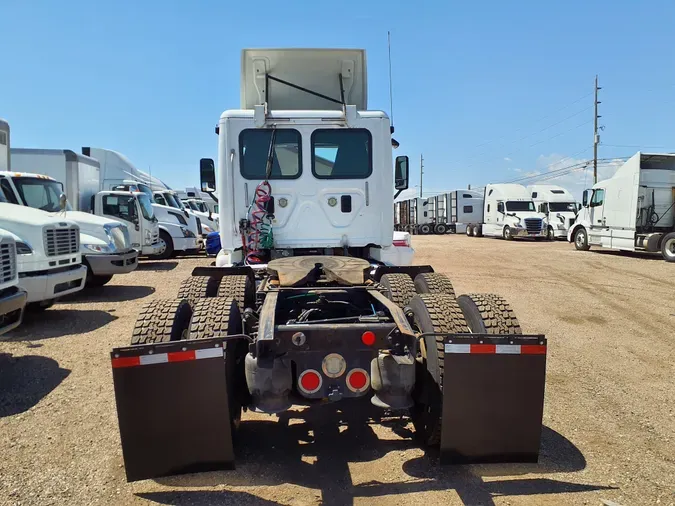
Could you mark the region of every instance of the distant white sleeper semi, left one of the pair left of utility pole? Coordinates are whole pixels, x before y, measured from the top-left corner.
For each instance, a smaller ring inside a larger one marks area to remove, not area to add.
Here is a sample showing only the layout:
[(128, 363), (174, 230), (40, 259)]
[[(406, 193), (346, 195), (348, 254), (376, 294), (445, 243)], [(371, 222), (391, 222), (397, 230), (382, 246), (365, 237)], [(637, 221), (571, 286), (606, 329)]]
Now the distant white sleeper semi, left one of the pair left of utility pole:
[(520, 184), (489, 184), (485, 187), (483, 213), (477, 223), (468, 223), (466, 235), (546, 238), (548, 220), (537, 211), (527, 188)]

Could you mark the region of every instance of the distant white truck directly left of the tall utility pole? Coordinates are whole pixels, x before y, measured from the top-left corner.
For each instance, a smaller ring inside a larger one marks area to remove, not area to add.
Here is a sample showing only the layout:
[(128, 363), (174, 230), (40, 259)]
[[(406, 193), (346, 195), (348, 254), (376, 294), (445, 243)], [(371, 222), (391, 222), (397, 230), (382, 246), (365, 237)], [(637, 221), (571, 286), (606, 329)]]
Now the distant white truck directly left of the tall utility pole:
[(567, 239), (567, 231), (574, 224), (579, 210), (574, 196), (562, 186), (552, 184), (534, 184), (528, 186), (527, 191), (537, 211), (548, 219), (548, 239)]

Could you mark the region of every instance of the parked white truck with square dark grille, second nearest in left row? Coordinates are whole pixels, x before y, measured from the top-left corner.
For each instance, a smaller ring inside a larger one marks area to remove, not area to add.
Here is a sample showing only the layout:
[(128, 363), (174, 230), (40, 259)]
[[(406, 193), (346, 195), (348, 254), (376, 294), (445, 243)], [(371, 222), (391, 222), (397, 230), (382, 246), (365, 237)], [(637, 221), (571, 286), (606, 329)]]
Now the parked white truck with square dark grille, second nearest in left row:
[(66, 215), (10, 204), (0, 192), (0, 228), (16, 241), (19, 286), (31, 308), (84, 288), (80, 227)]

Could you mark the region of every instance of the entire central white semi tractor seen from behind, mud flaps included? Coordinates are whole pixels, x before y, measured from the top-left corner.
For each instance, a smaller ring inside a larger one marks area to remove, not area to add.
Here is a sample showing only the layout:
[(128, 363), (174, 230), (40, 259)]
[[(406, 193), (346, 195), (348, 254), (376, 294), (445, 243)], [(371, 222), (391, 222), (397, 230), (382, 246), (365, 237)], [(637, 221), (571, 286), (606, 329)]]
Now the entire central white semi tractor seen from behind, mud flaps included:
[(442, 462), (536, 461), (546, 338), (499, 295), (397, 263), (408, 157), (367, 108), (365, 51), (244, 50), (241, 68), (217, 166), (200, 162), (223, 197), (216, 265), (111, 351), (127, 480), (231, 468), (242, 410), (359, 399), (409, 416)]

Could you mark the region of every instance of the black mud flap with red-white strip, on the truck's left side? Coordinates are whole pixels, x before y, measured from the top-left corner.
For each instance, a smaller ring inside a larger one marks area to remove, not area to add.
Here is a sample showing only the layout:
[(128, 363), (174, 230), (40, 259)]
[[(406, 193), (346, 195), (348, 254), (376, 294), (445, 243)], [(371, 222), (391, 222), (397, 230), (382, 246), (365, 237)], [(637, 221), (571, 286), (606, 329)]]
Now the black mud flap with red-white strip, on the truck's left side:
[(127, 481), (234, 468), (223, 341), (112, 351)]

